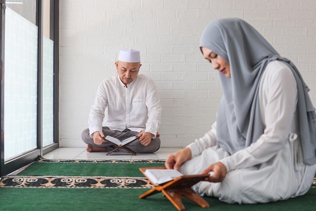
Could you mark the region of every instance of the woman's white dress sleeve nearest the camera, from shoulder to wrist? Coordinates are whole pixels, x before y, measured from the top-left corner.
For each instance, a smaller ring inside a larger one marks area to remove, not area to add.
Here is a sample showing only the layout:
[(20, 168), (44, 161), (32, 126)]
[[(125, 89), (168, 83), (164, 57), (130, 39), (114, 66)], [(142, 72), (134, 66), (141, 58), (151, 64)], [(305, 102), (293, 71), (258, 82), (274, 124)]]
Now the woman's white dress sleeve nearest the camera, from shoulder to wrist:
[[(261, 80), (260, 112), (264, 134), (249, 147), (221, 160), (228, 172), (267, 162), (285, 146), (297, 104), (296, 80), (286, 65), (275, 63)], [(259, 94), (260, 96), (260, 94)]]

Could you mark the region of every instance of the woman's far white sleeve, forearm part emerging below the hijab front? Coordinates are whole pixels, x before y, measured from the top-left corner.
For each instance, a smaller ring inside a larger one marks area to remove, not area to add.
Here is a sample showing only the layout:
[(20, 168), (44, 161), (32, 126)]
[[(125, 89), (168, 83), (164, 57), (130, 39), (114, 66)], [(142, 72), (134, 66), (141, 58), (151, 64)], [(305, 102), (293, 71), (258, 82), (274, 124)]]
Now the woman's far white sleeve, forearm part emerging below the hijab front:
[(189, 144), (187, 147), (191, 150), (191, 156), (194, 157), (202, 153), (202, 151), (208, 147), (217, 145), (216, 141), (216, 122), (202, 138), (195, 139), (195, 141)]

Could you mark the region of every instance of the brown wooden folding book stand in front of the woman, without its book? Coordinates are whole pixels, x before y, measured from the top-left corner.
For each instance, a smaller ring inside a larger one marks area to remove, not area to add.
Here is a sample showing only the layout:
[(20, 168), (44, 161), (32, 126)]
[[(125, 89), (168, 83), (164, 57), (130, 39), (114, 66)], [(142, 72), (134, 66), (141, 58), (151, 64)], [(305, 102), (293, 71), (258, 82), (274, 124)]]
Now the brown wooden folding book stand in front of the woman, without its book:
[[(166, 169), (164, 166), (160, 167), (144, 167), (139, 168), (140, 172), (149, 180), (149, 178), (144, 174), (146, 169)], [(149, 182), (154, 185), (155, 187), (146, 193), (139, 196), (139, 198), (146, 198), (147, 196), (163, 192), (164, 196), (166, 196), (171, 203), (180, 211), (185, 210), (185, 207), (182, 203), (181, 196), (184, 196), (203, 208), (209, 207), (209, 204), (198, 194), (196, 193), (191, 187), (198, 183), (199, 181), (208, 177), (208, 174), (204, 175), (186, 175), (182, 177), (178, 177), (170, 182), (167, 182), (162, 185), (155, 185), (152, 181)]]

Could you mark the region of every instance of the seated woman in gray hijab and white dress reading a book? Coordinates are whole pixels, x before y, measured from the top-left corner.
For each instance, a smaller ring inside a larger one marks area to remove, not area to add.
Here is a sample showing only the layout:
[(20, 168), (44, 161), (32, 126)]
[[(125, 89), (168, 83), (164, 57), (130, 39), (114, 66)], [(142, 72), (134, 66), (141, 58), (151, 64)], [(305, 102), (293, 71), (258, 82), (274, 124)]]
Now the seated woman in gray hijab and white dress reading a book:
[(219, 19), (200, 39), (223, 88), (212, 129), (168, 156), (194, 186), (228, 203), (265, 203), (305, 194), (316, 171), (315, 109), (295, 65), (243, 20)]

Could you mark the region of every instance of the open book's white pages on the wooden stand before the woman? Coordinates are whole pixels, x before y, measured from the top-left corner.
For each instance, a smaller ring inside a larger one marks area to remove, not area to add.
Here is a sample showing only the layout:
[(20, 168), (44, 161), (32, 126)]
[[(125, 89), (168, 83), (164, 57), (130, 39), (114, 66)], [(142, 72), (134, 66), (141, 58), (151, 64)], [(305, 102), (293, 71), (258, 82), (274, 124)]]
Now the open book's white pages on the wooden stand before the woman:
[(180, 172), (173, 169), (150, 169), (144, 172), (145, 176), (155, 185), (161, 185), (183, 176)]

